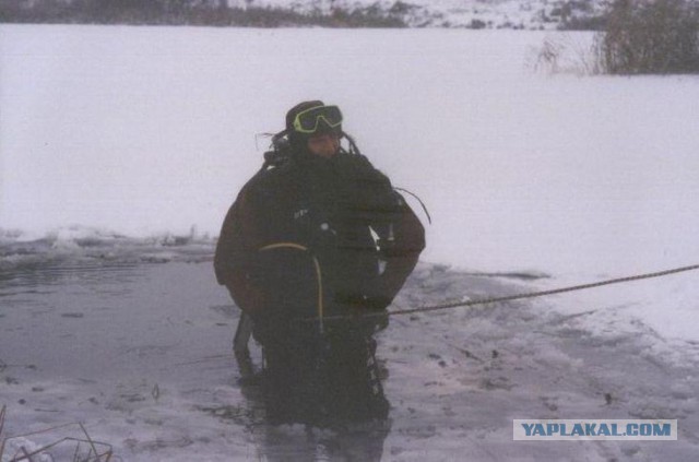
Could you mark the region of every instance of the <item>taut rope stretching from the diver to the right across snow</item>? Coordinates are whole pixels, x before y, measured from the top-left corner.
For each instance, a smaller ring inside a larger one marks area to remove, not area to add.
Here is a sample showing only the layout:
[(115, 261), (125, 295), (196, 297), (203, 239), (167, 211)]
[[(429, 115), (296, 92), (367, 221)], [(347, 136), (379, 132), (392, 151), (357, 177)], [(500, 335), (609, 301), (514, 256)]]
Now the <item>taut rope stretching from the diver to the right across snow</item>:
[[(602, 287), (604, 285), (621, 284), (621, 283), (627, 283), (627, 282), (632, 282), (632, 281), (640, 281), (640, 280), (650, 280), (650, 279), (653, 279), (653, 277), (661, 277), (661, 276), (666, 276), (666, 275), (670, 275), (670, 274), (683, 273), (683, 272), (686, 272), (686, 271), (694, 271), (694, 270), (699, 270), (699, 264), (692, 264), (690, 266), (675, 268), (675, 269), (672, 269), (672, 270), (659, 271), (659, 272), (655, 272), (655, 273), (645, 273), (645, 274), (637, 274), (637, 275), (633, 275), (633, 276), (617, 277), (617, 279), (613, 279), (613, 280), (600, 281), (600, 282), (590, 283), (590, 284), (580, 284), (580, 285), (572, 285), (572, 286), (568, 286), (568, 287), (553, 288), (553, 289), (549, 289), (549, 291), (528, 292), (528, 293), (516, 294), (516, 295), (507, 295), (507, 296), (503, 296), (503, 297), (481, 298), (481, 299), (467, 300), (467, 301), (463, 301), (463, 300), (447, 301), (447, 303), (443, 303), (443, 304), (440, 304), (440, 305), (424, 306), (424, 307), (418, 307), (418, 308), (399, 309), (399, 310), (386, 311), (386, 312), (363, 313), (359, 317), (362, 317), (362, 318), (375, 318), (375, 317), (384, 317), (384, 316), (411, 315), (411, 313), (415, 313), (415, 312), (429, 312), (429, 311), (438, 311), (438, 310), (450, 309), (450, 308), (471, 307), (471, 306), (476, 306), (476, 305), (488, 305), (488, 304), (495, 304), (495, 303), (501, 303), (501, 301), (512, 301), (512, 300), (520, 300), (520, 299), (524, 299), (524, 298), (535, 298), (535, 297), (543, 297), (543, 296), (546, 296), (546, 295), (562, 294), (562, 293), (566, 293), (566, 292), (584, 291), (584, 289), (594, 288), (594, 287)], [(334, 321), (334, 320), (341, 320), (341, 319), (353, 319), (353, 318), (356, 318), (356, 316), (354, 316), (354, 317), (352, 317), (352, 316), (330, 316), (330, 317), (325, 317), (325, 321)]]

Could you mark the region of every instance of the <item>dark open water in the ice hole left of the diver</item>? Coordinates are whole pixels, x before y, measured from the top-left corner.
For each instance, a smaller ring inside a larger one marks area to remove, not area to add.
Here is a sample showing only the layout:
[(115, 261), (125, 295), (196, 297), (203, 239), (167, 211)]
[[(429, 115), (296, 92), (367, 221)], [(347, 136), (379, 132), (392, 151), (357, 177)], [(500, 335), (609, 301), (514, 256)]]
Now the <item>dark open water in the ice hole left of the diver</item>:
[[(102, 439), (122, 460), (166, 460), (168, 443), (127, 438), (161, 420), (162, 394), (179, 410), (161, 424), (179, 443), (196, 439), (188, 428), (200, 424), (189, 422), (203, 419), (263, 460), (381, 459), (386, 424), (343, 433), (266, 424), (259, 383), (239, 382), (230, 352), (239, 311), (216, 284), (212, 246), (24, 249), (5, 246), (0, 263), (7, 431), (98, 420), (117, 428)], [(260, 348), (250, 346), (259, 367)]]

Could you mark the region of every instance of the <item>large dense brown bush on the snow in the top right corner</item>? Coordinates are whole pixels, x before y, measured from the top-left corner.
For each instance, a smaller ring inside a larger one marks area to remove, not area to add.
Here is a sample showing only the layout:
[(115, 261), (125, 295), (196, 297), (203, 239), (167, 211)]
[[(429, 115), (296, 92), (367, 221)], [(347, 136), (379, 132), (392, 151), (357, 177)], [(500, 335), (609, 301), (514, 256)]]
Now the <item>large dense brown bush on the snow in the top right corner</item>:
[(692, 0), (615, 0), (597, 35), (612, 74), (699, 73), (699, 10)]

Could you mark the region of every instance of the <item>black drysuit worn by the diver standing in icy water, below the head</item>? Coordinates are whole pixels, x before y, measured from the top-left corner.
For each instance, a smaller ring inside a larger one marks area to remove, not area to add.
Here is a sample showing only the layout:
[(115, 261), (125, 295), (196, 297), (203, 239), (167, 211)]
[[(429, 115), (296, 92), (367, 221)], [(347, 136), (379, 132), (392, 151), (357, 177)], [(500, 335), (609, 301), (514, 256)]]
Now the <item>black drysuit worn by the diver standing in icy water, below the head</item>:
[(318, 318), (383, 310), (424, 247), (419, 220), (362, 155), (295, 154), (242, 188), (214, 264), (264, 347), (270, 416), (386, 416), (371, 322), (329, 320), (321, 332)]

